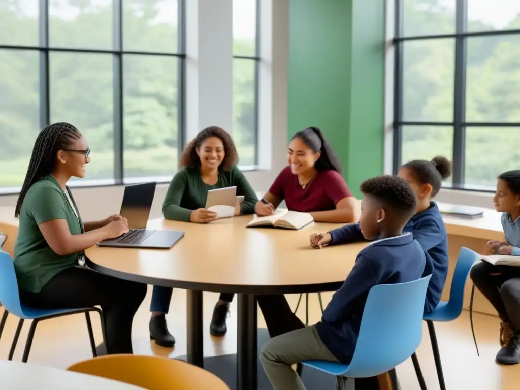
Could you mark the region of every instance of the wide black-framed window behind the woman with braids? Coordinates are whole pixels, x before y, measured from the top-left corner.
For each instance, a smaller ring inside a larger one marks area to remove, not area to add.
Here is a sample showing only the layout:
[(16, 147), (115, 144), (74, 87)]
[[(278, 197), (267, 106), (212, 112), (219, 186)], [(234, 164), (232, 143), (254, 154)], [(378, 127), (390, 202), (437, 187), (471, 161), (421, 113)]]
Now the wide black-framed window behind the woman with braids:
[(87, 178), (171, 177), (183, 147), (184, 0), (0, 1), (0, 189), (38, 131), (70, 122)]

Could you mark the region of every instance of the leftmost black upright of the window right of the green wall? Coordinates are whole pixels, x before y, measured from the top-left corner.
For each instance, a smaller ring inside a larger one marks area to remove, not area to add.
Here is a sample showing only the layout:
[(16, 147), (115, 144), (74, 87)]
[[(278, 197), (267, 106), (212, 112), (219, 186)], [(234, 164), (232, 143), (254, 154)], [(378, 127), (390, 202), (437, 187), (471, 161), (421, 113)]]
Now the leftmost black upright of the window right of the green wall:
[[(394, 36), (402, 34), (402, 0), (395, 0)], [(402, 149), (402, 42), (394, 44), (394, 122), (393, 122), (393, 150), (392, 170), (397, 174), (401, 165)]]

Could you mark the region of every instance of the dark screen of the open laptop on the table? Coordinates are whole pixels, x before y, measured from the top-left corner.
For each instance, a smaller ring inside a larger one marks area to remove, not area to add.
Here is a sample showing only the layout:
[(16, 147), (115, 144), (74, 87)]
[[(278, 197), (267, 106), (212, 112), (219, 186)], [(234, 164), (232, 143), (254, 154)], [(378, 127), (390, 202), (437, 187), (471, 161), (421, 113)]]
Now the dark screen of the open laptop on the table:
[(157, 183), (125, 187), (120, 215), (128, 219), (128, 228), (146, 229)]

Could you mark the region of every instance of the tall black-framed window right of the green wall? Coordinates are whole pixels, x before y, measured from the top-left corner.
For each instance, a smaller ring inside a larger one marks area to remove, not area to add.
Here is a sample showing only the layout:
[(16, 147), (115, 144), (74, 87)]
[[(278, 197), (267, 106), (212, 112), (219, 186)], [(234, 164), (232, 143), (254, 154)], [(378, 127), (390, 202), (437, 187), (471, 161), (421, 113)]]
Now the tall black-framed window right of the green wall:
[(395, 1), (394, 171), (441, 154), (492, 189), (520, 169), (520, 2)]

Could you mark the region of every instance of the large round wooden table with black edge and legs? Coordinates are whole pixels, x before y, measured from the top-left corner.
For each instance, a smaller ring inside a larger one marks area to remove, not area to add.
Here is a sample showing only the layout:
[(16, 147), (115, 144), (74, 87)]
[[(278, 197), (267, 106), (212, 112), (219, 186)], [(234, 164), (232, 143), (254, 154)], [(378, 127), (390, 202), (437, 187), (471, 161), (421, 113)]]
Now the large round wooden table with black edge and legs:
[(170, 250), (93, 247), (87, 264), (105, 274), (187, 290), (187, 360), (203, 366), (202, 292), (238, 293), (237, 388), (257, 388), (255, 294), (337, 290), (366, 243), (316, 250), (309, 234), (340, 226), (311, 223), (300, 230), (246, 228), (251, 216), (209, 225), (150, 220), (149, 229), (185, 237)]

